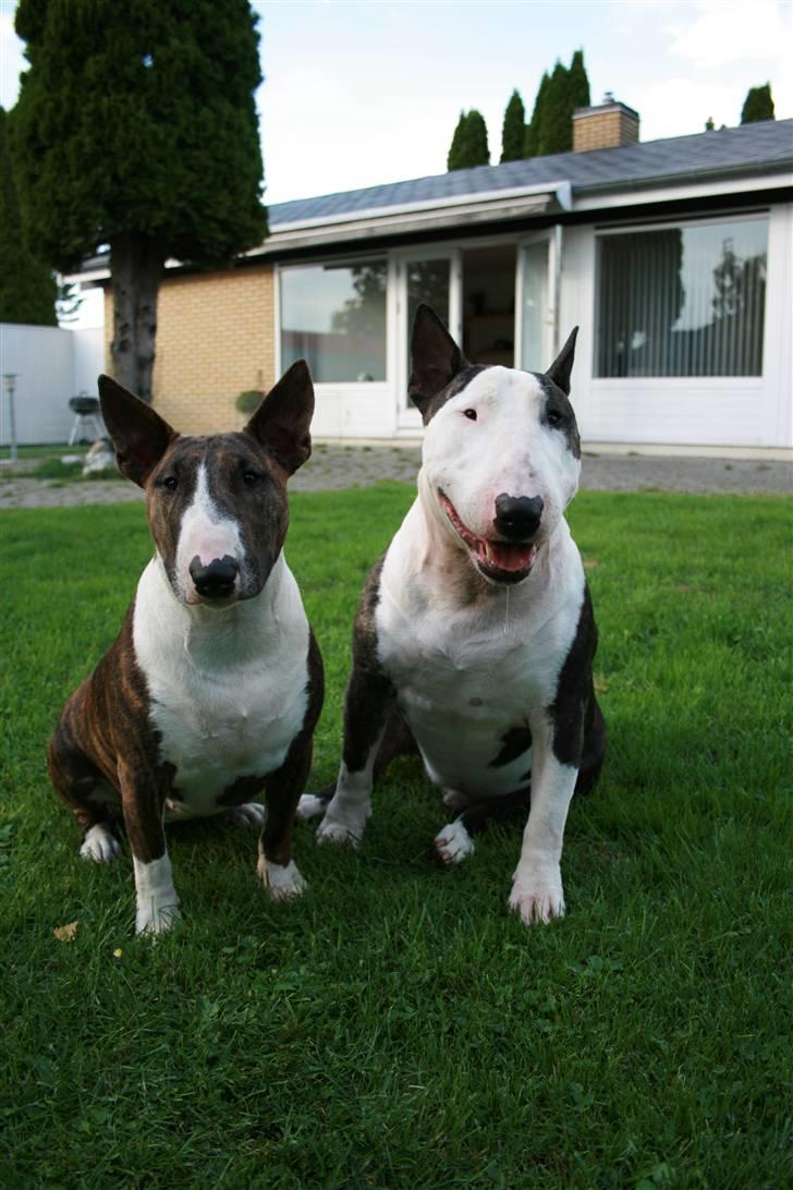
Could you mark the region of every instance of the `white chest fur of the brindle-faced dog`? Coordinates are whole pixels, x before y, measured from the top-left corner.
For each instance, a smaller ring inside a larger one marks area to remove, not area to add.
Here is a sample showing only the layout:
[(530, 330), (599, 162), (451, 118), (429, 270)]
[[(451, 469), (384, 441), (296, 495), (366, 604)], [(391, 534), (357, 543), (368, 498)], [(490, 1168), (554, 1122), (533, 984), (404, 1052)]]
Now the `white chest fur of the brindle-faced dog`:
[(262, 593), (229, 608), (185, 607), (159, 558), (138, 584), (133, 640), (176, 769), (170, 816), (215, 814), (239, 777), (283, 763), (307, 707), (309, 628), (283, 555)]

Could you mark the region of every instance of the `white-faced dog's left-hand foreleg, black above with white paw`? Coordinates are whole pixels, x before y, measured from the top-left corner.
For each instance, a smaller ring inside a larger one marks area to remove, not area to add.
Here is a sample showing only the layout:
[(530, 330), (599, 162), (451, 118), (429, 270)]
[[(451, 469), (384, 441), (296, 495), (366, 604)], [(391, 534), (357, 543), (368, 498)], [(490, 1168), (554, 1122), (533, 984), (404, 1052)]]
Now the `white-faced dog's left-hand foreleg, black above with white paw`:
[(355, 668), (345, 699), (344, 752), (336, 791), (316, 832), (317, 841), (357, 846), (372, 813), (372, 784), (396, 691), (378, 670)]

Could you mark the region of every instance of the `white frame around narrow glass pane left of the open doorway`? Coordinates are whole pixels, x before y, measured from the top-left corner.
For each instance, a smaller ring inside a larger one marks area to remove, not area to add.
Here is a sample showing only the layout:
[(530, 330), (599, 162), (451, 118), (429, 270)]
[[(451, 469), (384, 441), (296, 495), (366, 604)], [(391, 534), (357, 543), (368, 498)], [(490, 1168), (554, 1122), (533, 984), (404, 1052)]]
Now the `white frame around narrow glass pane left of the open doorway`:
[(409, 261), (449, 262), (449, 311), (448, 328), (455, 343), (462, 342), (462, 249), (459, 245), (436, 244), (435, 246), (404, 248), (391, 252), (394, 308), (389, 325), (394, 326), (391, 350), (389, 352), (389, 375), (394, 376), (396, 400), (396, 422), (398, 430), (416, 431), (421, 428), (421, 414), (413, 405), (408, 405), (408, 347), (410, 327), (408, 326), (408, 270)]

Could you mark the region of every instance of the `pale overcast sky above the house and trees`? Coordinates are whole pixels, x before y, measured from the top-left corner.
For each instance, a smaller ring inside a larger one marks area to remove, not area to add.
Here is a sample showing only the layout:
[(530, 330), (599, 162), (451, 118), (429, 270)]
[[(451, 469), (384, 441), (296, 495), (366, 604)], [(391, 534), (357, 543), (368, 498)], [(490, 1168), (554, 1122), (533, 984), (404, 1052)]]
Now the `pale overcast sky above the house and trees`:
[[(446, 169), (460, 109), (478, 107), (491, 159), (514, 88), (530, 115), (558, 57), (584, 49), (592, 101), (613, 92), (641, 139), (736, 125), (769, 81), (793, 115), (793, 0), (264, 0), (258, 93), (266, 201)], [(0, 104), (24, 69), (14, 0), (0, 0)]]

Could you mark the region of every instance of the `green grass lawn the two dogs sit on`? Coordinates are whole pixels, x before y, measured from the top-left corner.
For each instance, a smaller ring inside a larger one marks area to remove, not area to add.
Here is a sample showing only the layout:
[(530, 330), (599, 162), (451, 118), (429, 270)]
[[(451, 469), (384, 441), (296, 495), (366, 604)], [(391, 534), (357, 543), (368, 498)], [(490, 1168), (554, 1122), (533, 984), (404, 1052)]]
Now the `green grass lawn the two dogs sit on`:
[[(359, 588), (410, 499), (292, 499), (316, 783)], [(0, 1185), (791, 1185), (789, 513), (575, 501), (610, 754), (571, 813), (566, 919), (508, 914), (518, 825), (438, 871), (446, 814), (405, 759), (360, 852), (298, 826), (292, 904), (257, 885), (251, 834), (171, 828), (185, 921), (157, 946), (131, 937), (128, 852), (78, 859), (44, 765), (147, 559), (143, 508), (2, 514)]]

